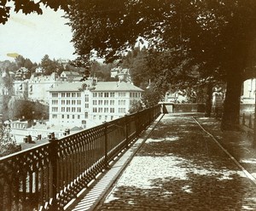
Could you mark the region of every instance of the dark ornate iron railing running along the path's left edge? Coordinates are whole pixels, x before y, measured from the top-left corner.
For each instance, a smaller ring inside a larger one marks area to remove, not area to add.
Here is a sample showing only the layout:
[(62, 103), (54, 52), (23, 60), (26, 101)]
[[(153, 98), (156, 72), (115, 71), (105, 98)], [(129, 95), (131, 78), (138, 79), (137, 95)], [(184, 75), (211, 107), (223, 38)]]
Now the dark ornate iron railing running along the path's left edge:
[(0, 210), (63, 210), (159, 115), (154, 106), (0, 158)]

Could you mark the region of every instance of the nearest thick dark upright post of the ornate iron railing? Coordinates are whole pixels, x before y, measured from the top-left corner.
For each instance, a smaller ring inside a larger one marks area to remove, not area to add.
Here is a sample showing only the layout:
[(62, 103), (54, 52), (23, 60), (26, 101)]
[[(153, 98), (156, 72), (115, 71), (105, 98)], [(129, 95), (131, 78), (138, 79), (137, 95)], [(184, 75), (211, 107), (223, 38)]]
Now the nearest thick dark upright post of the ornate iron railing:
[(50, 143), (50, 149), (49, 149), (49, 159), (50, 159), (50, 193), (52, 197), (52, 202), (50, 203), (49, 210), (55, 211), (59, 210), (57, 206), (57, 141), (55, 140), (55, 133), (49, 134), (49, 143)]

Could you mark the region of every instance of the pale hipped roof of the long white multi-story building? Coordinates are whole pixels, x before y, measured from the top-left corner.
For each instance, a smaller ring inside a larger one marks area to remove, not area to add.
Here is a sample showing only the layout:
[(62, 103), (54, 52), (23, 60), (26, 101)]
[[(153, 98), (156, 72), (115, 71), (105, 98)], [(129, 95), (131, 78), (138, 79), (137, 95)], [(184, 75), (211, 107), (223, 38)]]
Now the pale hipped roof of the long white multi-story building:
[[(54, 88), (49, 89), (50, 92), (78, 92), (83, 90), (84, 84), (87, 87), (93, 87), (91, 85), (91, 81), (87, 80), (84, 82), (74, 82), (74, 83), (60, 83), (56, 84)], [(125, 82), (98, 82), (94, 89), (94, 92), (101, 92), (101, 91), (133, 91), (133, 92), (143, 92), (142, 88), (138, 88), (134, 86), (132, 83), (125, 83)]]

